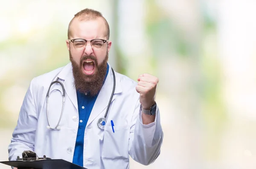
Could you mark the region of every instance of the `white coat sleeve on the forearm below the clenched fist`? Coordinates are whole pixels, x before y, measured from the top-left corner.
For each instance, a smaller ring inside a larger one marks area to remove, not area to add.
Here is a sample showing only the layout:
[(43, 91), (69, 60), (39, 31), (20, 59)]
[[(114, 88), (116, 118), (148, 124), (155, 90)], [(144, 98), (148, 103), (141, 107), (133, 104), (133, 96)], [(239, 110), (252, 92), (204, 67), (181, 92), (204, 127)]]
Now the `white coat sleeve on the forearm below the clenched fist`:
[(160, 124), (160, 113), (157, 107), (155, 121), (151, 124), (142, 123), (140, 101), (137, 101), (132, 118), (129, 140), (129, 154), (135, 161), (149, 165), (160, 155), (163, 143), (163, 130)]

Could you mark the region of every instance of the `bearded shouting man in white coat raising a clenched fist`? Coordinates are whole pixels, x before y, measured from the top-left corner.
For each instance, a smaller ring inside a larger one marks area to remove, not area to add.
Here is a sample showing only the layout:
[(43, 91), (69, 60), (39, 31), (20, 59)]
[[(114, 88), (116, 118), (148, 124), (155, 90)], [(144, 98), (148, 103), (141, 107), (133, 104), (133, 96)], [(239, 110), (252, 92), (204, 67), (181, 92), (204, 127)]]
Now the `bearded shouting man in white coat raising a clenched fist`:
[(158, 79), (144, 73), (136, 83), (112, 71), (109, 32), (108, 22), (92, 9), (70, 21), (71, 63), (32, 80), (9, 145), (10, 161), (31, 150), (88, 169), (127, 169), (129, 155), (144, 165), (159, 156)]

